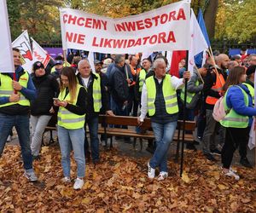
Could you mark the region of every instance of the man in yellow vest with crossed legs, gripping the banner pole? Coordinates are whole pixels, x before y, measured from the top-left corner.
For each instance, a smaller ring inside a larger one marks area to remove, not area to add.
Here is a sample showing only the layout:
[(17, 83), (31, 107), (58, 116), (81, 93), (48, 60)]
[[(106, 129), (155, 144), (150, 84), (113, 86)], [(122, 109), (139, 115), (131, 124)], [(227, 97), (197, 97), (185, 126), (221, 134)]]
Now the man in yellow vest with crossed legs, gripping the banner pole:
[(185, 78), (190, 78), (189, 72), (184, 72), (183, 78), (166, 74), (166, 61), (159, 58), (154, 60), (154, 75), (146, 78), (143, 85), (138, 124), (143, 123), (148, 112), (156, 141), (154, 155), (148, 162), (148, 178), (154, 178), (156, 167), (160, 167), (159, 181), (168, 176), (167, 153), (178, 118), (176, 89), (183, 86)]

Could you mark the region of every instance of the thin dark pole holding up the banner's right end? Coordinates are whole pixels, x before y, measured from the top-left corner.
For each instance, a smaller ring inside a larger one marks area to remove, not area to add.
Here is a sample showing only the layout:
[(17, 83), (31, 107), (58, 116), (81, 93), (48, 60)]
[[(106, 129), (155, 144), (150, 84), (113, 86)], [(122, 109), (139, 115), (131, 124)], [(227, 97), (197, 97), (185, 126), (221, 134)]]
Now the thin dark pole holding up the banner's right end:
[[(186, 70), (189, 67), (189, 50), (186, 51)], [(185, 90), (184, 90), (184, 101), (183, 101), (183, 140), (182, 140), (182, 150), (181, 150), (181, 163), (180, 163), (180, 177), (183, 176), (183, 156), (184, 156), (184, 141), (185, 141), (185, 124), (186, 124), (186, 105), (187, 105), (187, 87), (188, 78), (185, 78)]]

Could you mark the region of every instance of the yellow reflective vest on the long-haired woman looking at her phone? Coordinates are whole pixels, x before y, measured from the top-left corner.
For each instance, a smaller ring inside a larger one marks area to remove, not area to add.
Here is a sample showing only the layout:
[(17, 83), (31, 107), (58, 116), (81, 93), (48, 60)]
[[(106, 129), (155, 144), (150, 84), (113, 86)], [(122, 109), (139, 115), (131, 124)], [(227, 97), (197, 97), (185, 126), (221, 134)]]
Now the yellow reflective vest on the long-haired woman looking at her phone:
[[(79, 89), (82, 86), (77, 84), (76, 96), (73, 101), (75, 104), (78, 101)], [(59, 95), (59, 99), (61, 101), (71, 100), (70, 93), (66, 95), (66, 89), (63, 89)], [(65, 98), (64, 98), (65, 97)], [(77, 115), (73, 112), (68, 111), (65, 107), (60, 107), (58, 112), (58, 125), (66, 128), (67, 130), (77, 130), (84, 127), (85, 114)]]

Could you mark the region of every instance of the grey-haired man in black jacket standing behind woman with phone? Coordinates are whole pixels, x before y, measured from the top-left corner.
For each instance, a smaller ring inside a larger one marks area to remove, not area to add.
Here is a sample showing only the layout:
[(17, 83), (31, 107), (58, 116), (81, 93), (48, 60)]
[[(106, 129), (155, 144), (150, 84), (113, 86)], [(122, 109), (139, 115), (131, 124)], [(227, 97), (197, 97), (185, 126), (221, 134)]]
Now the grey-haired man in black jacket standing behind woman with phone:
[[(87, 160), (90, 160), (89, 144), (86, 138), (86, 124), (90, 131), (90, 150), (93, 164), (100, 162), (100, 150), (98, 139), (99, 112), (102, 108), (108, 115), (113, 115), (109, 108), (108, 94), (102, 83), (101, 77), (97, 73), (91, 72), (88, 60), (80, 60), (78, 65), (79, 73), (77, 78), (79, 84), (84, 86), (86, 95), (86, 118), (85, 118), (85, 139), (84, 153)], [(84, 100), (85, 101), (85, 100)]]

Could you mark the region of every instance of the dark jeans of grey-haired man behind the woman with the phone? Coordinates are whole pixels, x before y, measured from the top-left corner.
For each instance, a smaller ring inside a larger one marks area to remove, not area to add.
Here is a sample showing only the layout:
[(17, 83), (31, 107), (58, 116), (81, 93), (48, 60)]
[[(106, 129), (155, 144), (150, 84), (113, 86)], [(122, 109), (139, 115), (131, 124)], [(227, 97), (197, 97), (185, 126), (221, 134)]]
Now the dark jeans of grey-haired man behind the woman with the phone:
[[(99, 118), (98, 116), (92, 118), (86, 118), (84, 126), (88, 124), (89, 132), (90, 132), (90, 150), (91, 150), (91, 158), (92, 162), (96, 163), (100, 159), (100, 146), (99, 146), (99, 138), (98, 138), (98, 124)], [(88, 153), (89, 151), (89, 143), (86, 137), (84, 137), (84, 152)]]

